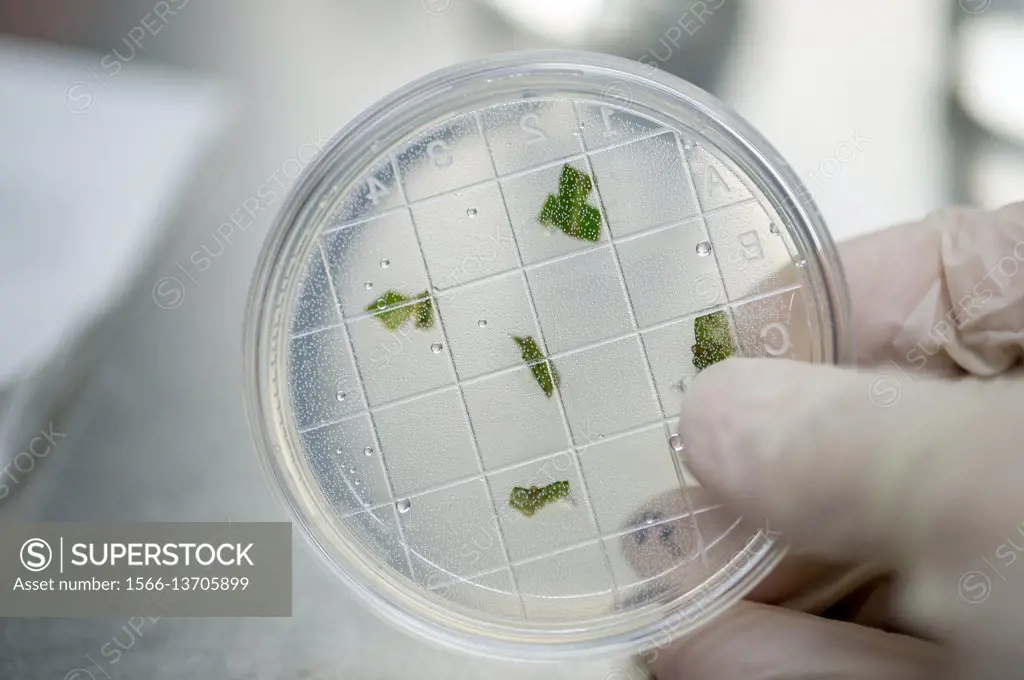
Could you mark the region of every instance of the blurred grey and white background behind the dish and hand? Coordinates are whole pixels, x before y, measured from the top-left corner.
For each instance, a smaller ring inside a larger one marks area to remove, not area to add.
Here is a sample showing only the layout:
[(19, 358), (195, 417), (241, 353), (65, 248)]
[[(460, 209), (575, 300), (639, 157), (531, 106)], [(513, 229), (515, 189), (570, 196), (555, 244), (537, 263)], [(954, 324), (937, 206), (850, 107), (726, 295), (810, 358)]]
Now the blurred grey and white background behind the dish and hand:
[[(552, 46), (725, 100), (837, 241), (1024, 198), (1024, 0), (0, 0), (0, 520), (287, 519), (251, 445), (242, 316), (307, 150), (437, 68)], [(261, 185), (276, 199), (249, 218)], [(523, 673), (404, 639), (299, 540), (294, 582), (288, 620), (0, 620), (0, 676)]]

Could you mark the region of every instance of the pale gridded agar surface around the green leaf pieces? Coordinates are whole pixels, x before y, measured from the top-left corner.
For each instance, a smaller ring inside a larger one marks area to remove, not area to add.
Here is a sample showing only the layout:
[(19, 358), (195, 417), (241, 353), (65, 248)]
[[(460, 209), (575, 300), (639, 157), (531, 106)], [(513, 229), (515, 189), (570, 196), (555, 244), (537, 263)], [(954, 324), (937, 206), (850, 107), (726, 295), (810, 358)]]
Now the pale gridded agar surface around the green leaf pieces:
[[(594, 180), (595, 243), (538, 221), (566, 164)], [(742, 568), (761, 527), (710, 504), (674, 433), (699, 315), (724, 311), (739, 354), (821, 360), (760, 197), (686, 131), (582, 100), (382, 150), (322, 225), (285, 397), (323, 505), (382, 580), (486, 621), (586, 626)], [(427, 292), (433, 327), (368, 312), (389, 290)], [(549, 357), (550, 397), (511, 336)], [(570, 500), (509, 507), (556, 480)]]

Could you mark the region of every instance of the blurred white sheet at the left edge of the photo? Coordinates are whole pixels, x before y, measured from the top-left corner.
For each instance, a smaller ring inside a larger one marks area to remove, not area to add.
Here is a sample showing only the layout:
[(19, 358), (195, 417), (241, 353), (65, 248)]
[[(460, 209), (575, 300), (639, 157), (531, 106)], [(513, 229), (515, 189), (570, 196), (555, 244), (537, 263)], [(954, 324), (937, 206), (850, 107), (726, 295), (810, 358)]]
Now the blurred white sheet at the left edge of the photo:
[(117, 299), (229, 111), (212, 82), (100, 58), (0, 40), (0, 385)]

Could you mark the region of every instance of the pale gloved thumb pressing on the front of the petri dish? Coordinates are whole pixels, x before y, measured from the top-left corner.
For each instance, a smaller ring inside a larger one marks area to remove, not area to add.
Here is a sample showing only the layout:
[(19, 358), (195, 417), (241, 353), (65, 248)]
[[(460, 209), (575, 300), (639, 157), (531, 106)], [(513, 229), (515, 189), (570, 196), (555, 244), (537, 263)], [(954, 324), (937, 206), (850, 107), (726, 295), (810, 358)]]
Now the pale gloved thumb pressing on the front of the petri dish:
[(898, 568), (990, 552), (1024, 519), (1021, 396), (1011, 379), (736, 358), (691, 385), (680, 434), (700, 481), (785, 541)]

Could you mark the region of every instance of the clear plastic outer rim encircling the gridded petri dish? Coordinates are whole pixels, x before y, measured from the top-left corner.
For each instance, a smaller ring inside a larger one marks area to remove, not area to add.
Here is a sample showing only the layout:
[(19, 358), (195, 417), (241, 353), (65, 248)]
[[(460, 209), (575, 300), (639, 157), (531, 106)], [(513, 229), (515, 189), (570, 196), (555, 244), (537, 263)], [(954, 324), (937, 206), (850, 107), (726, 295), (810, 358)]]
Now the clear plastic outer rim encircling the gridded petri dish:
[(757, 183), (759, 198), (775, 210), (798, 256), (806, 261), (807, 293), (814, 300), (817, 328), (827, 336), (821, 339), (822, 360), (851, 360), (849, 302), (835, 245), (803, 183), (756, 130), (712, 95), (641, 62), (566, 50), (510, 53), (435, 72), (381, 99), (335, 135), (299, 176), (271, 227), (250, 291), (244, 337), (247, 417), (271, 487), (298, 519), (304, 538), (353, 593), (392, 624), (445, 647), (503, 658), (554, 661), (635, 652), (654, 640), (685, 634), (740, 599), (774, 568), (785, 547), (755, 537), (730, 562), (744, 558), (745, 563), (734, 572), (729, 565), (723, 567), (728, 573), (719, 583), (633, 612), (633, 618), (615, 614), (587, 628), (494, 624), (440, 609), (430, 597), (379, 579), (373, 562), (338, 540), (338, 522), (302, 481), (308, 471), (296, 460), (301, 454), (292, 453), (300, 449), (298, 432), (282, 398), (287, 390), (288, 322), (324, 218), (375, 159), (412, 133), (450, 118), (453, 109), (472, 111), (512, 93), (522, 97), (524, 88), (554, 88), (569, 91), (573, 98), (617, 107), (628, 103), (676, 129), (686, 121), (686, 127), (722, 151)]

